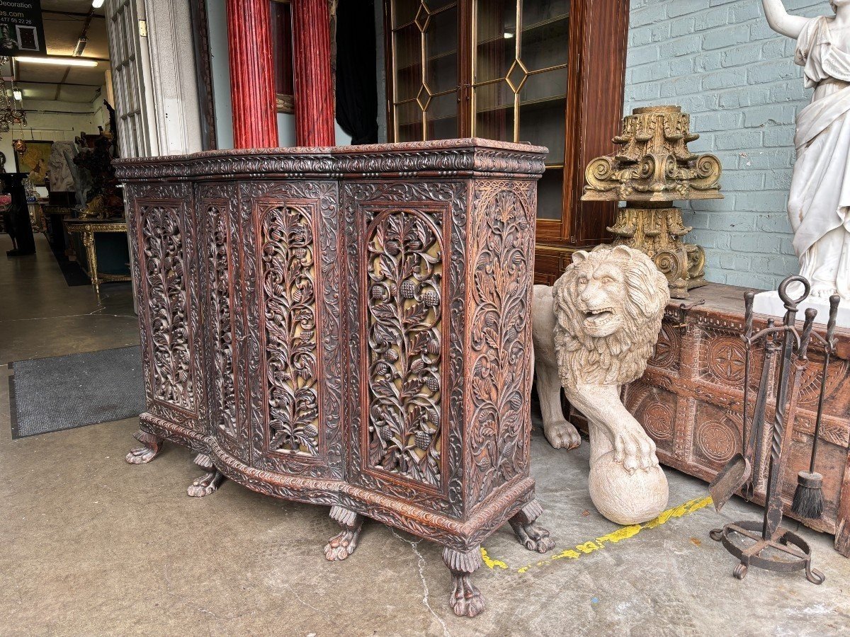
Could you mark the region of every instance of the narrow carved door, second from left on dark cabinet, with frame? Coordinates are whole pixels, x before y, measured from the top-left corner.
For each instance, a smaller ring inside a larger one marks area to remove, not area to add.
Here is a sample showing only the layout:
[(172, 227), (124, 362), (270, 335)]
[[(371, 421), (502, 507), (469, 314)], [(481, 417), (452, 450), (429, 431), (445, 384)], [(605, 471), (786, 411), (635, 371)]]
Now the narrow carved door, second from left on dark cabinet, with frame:
[(210, 435), (228, 454), (250, 464), (237, 194), (235, 183), (195, 187)]

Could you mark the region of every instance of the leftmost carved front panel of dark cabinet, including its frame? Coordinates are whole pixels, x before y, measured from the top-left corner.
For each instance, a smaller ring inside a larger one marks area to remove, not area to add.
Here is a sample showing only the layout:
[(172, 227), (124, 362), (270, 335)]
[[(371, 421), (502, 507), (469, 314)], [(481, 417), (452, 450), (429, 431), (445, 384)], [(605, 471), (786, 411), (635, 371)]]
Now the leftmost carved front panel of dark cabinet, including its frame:
[(147, 409), (197, 440), (207, 410), (192, 186), (133, 185), (127, 195)]

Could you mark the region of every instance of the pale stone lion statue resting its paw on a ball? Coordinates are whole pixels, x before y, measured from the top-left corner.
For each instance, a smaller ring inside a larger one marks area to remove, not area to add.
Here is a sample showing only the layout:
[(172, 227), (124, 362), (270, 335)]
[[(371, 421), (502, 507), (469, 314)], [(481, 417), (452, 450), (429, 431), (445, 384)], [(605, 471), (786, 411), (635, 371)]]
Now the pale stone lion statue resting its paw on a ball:
[(621, 524), (652, 519), (667, 504), (655, 443), (620, 393), (643, 375), (669, 300), (666, 277), (625, 245), (576, 251), (553, 287), (534, 289), (535, 375), (546, 437), (555, 448), (581, 443), (561, 409), (563, 386), (587, 418), (593, 504)]

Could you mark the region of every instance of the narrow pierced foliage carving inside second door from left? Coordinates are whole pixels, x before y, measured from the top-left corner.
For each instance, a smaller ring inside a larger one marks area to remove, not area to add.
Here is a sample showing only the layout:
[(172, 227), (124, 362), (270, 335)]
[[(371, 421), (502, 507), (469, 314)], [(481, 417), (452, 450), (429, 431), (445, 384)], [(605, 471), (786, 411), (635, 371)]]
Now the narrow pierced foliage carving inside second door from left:
[(214, 423), (230, 437), (236, 436), (233, 324), (230, 308), (229, 230), (227, 211), (207, 206), (207, 268), (212, 321), (212, 381), (217, 404)]

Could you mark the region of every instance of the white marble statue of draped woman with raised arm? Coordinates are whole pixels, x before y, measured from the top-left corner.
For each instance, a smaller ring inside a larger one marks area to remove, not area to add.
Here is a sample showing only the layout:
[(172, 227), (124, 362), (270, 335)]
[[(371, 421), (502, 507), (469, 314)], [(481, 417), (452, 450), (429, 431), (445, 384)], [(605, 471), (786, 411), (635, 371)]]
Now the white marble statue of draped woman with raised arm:
[(789, 15), (782, 0), (762, 0), (768, 25), (796, 38), (812, 103), (797, 113), (796, 162), (788, 216), (800, 273), (811, 296), (836, 291), (850, 302), (850, 0), (830, 0), (835, 15)]

